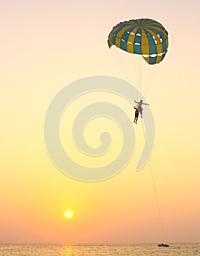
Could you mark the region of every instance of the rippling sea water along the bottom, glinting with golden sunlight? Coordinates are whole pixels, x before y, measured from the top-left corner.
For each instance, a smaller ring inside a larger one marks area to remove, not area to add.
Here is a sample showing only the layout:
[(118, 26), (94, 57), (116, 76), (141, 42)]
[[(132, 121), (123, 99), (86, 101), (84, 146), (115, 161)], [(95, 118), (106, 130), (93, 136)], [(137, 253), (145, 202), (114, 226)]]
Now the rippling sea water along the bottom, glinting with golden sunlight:
[(0, 244), (1, 256), (200, 256), (200, 243), (129, 245)]

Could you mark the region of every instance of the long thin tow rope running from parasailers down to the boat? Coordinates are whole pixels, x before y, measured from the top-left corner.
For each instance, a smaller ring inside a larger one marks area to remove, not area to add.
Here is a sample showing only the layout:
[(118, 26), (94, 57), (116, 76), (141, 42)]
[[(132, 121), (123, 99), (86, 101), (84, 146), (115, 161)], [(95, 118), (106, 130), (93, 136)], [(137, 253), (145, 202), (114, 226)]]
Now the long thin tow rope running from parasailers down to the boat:
[[(142, 118), (141, 118), (141, 121), (142, 121)], [(157, 208), (158, 208), (159, 219), (160, 219), (160, 222), (161, 222), (161, 232), (162, 232), (163, 239), (165, 241), (163, 218), (162, 218), (162, 215), (161, 215), (161, 208), (160, 208), (160, 205), (159, 205), (157, 189), (155, 187), (155, 180), (154, 180), (154, 176), (153, 176), (153, 169), (152, 169), (151, 162), (150, 162), (150, 154), (149, 154), (149, 151), (148, 151), (148, 148), (147, 148), (147, 140), (146, 140), (146, 136), (145, 136), (145, 127), (144, 127), (143, 121), (142, 121), (142, 130), (143, 130), (143, 135), (144, 135), (144, 138), (145, 138), (145, 148), (146, 148), (146, 151), (147, 151), (148, 163), (149, 163), (149, 166), (150, 166), (150, 174), (151, 174), (151, 178), (152, 178), (152, 181), (153, 181), (153, 190), (154, 190), (154, 194), (155, 194), (155, 200), (156, 200), (156, 204), (157, 204)]]

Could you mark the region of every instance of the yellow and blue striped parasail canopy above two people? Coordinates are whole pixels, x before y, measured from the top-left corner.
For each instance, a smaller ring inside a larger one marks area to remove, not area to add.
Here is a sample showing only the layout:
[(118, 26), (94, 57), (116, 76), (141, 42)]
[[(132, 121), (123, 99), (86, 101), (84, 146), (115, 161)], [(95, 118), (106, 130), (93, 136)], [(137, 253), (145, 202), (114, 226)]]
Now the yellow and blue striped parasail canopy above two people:
[(168, 48), (168, 32), (158, 21), (141, 18), (118, 23), (109, 33), (108, 45), (116, 45), (128, 53), (142, 55), (148, 64), (164, 59)]

